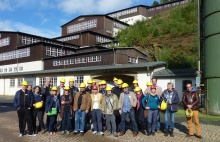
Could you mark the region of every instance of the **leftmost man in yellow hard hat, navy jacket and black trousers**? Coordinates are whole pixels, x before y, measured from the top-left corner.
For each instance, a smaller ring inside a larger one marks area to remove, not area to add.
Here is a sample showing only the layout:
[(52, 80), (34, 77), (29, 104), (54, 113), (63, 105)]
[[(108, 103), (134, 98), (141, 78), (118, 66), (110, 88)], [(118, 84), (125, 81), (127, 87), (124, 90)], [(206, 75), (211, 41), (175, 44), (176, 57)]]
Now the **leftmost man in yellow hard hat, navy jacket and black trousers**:
[(28, 125), (28, 135), (36, 136), (33, 133), (33, 126), (31, 122), (31, 108), (33, 107), (33, 93), (27, 90), (28, 83), (23, 81), (22, 88), (15, 93), (14, 107), (17, 109), (18, 122), (19, 122), (19, 137), (24, 135), (24, 119)]

